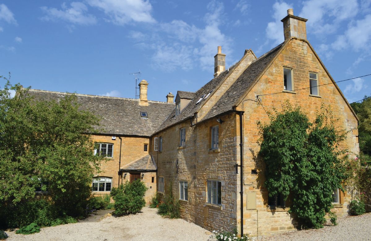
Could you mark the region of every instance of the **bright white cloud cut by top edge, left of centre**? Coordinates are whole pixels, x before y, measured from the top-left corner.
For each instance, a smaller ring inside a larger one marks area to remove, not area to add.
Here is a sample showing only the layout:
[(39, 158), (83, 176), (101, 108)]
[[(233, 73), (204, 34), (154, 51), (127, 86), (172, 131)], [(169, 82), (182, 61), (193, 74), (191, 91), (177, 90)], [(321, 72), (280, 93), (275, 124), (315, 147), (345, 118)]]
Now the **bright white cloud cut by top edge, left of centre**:
[(104, 11), (110, 21), (117, 25), (125, 25), (131, 21), (155, 23), (151, 16), (152, 5), (145, 0), (87, 0), (92, 7)]

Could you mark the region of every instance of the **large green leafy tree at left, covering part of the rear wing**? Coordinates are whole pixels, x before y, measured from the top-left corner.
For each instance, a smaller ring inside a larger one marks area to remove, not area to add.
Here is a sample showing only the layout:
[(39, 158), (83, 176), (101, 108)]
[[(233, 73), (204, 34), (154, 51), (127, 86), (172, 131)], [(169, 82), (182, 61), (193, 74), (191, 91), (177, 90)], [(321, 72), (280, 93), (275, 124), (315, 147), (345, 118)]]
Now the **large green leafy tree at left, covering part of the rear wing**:
[(103, 160), (93, 154), (89, 134), (97, 125), (99, 119), (80, 110), (73, 94), (35, 101), (28, 88), (8, 80), (0, 90), (0, 209), (16, 209), (48, 183), (42, 189), (61, 215), (81, 215)]

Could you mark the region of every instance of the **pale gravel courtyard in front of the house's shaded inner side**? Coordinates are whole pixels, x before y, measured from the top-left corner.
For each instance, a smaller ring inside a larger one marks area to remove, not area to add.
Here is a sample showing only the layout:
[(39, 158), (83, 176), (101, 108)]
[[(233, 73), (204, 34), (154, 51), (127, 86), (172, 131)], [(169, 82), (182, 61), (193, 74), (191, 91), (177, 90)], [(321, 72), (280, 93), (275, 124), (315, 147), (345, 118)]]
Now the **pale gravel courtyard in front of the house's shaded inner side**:
[(6, 231), (7, 241), (207, 241), (210, 232), (182, 219), (168, 219), (156, 214), (156, 208), (144, 207), (141, 213), (124, 217), (106, 217), (99, 222), (78, 222), (41, 228), (36, 234), (22, 235)]

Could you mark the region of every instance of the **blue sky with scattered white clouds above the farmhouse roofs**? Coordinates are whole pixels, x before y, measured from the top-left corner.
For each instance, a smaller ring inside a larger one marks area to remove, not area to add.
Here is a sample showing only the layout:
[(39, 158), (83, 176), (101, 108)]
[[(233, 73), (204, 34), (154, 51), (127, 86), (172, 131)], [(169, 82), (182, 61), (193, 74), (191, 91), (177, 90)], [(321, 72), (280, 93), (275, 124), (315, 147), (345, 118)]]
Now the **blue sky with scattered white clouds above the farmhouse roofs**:
[[(0, 1), (0, 75), (36, 89), (148, 98), (196, 91), (245, 49), (257, 56), (283, 41), (292, 7), (308, 19), (307, 38), (337, 80), (371, 74), (371, 0)], [(4, 83), (0, 83), (3, 86)], [(339, 83), (349, 102), (371, 94), (371, 77)]]

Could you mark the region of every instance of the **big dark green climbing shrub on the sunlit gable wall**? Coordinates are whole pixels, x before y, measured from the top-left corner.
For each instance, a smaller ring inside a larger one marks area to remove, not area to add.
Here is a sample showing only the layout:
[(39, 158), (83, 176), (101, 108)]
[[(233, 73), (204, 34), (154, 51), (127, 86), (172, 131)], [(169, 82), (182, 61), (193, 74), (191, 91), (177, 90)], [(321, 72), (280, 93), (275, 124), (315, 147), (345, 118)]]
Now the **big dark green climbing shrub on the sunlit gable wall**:
[(264, 185), (271, 197), (282, 194), (286, 200), (291, 195), (289, 212), (302, 227), (323, 227), (325, 214), (332, 208), (333, 190), (344, 190), (348, 157), (338, 145), (346, 132), (335, 123), (323, 107), (311, 122), (299, 107), (289, 104), (270, 116), (270, 123), (259, 123)]

